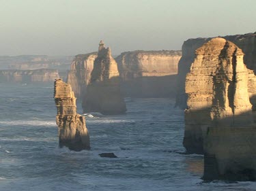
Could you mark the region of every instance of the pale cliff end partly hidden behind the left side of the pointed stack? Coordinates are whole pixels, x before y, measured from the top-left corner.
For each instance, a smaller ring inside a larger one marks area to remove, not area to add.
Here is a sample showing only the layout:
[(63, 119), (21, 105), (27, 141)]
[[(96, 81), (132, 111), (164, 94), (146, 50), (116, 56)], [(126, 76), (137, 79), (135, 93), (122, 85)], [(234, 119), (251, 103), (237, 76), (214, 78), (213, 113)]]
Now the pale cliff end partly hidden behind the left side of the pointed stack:
[(76, 55), (68, 73), (68, 84), (71, 85), (76, 97), (83, 97), (94, 69), (97, 52)]

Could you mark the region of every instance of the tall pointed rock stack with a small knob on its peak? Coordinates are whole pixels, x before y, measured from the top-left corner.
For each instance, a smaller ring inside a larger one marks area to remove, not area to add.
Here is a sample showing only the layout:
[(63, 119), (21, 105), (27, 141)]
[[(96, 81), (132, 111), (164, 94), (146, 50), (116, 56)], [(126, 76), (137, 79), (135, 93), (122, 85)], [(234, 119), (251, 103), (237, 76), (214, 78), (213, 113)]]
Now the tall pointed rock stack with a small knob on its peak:
[(120, 90), (117, 63), (111, 56), (110, 48), (105, 48), (102, 41), (98, 56), (94, 60), (94, 69), (87, 92), (83, 99), (83, 111), (100, 112), (106, 115), (124, 114), (126, 103)]

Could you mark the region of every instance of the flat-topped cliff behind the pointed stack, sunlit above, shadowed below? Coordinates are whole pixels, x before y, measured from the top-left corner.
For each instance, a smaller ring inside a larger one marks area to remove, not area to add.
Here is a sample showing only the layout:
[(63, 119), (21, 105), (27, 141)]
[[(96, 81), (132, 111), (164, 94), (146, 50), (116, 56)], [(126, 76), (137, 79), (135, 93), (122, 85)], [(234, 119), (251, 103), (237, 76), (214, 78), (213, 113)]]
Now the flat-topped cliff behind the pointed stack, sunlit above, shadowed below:
[(123, 52), (115, 60), (126, 97), (173, 97), (181, 51)]

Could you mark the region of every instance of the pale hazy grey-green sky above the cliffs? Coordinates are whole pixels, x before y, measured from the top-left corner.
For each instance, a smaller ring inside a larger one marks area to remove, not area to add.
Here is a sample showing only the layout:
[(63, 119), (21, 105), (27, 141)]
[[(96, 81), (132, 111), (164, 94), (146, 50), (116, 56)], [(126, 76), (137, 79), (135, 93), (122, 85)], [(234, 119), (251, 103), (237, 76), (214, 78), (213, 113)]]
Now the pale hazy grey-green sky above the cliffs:
[(180, 50), (256, 31), (255, 0), (0, 0), (0, 55)]

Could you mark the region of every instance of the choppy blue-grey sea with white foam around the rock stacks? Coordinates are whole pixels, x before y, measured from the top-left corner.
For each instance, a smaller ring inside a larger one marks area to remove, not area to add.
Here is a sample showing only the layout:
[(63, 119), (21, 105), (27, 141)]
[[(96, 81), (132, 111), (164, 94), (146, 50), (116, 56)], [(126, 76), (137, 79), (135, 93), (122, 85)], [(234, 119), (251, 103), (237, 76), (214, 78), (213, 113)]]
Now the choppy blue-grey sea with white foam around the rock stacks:
[(87, 118), (91, 150), (72, 152), (58, 147), (53, 87), (0, 88), (0, 190), (256, 190), (203, 183), (203, 157), (179, 154), (184, 115), (173, 100), (134, 99), (124, 116)]

